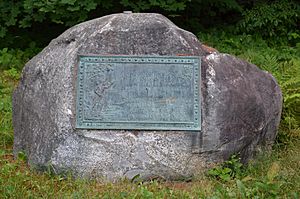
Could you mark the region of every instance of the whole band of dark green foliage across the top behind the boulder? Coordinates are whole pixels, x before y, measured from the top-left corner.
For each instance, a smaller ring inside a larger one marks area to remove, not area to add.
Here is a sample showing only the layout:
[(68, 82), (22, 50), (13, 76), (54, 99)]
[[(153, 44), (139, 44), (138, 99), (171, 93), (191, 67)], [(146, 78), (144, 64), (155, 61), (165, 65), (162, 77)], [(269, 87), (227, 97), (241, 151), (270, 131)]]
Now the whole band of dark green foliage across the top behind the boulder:
[(268, 0), (2, 0), (0, 48), (26, 46), (23, 43), (32, 40), (43, 45), (66, 27), (128, 9), (162, 13), (194, 32), (204, 27), (223, 29), (240, 21), (240, 33), (261, 33), (267, 38), (283, 36), (295, 45), (300, 39), (299, 7), (299, 3), (292, 0), (277, 0), (274, 3)]

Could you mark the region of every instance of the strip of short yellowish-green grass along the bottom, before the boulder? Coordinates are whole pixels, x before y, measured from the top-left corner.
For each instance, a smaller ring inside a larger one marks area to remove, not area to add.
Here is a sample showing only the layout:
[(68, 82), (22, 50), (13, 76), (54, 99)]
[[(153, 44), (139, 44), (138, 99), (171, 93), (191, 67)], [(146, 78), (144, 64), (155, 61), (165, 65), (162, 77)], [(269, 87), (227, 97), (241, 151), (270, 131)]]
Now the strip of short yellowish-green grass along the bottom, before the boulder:
[(1, 154), (0, 198), (298, 198), (300, 142), (274, 149), (244, 168), (243, 176), (220, 181), (204, 175), (191, 182), (116, 184), (75, 180), (30, 170), (10, 151)]

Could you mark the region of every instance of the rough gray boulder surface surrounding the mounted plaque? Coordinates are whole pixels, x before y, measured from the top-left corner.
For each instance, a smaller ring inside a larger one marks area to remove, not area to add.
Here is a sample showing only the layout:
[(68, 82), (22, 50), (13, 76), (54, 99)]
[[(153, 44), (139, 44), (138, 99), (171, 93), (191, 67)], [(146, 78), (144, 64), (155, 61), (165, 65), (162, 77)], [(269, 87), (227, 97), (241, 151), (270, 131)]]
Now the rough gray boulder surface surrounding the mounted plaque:
[[(78, 54), (201, 56), (202, 132), (75, 129)], [(201, 45), (162, 15), (114, 14), (68, 29), (26, 64), (13, 95), (14, 153), (106, 180), (189, 177), (272, 144), (281, 101), (270, 74)]]

